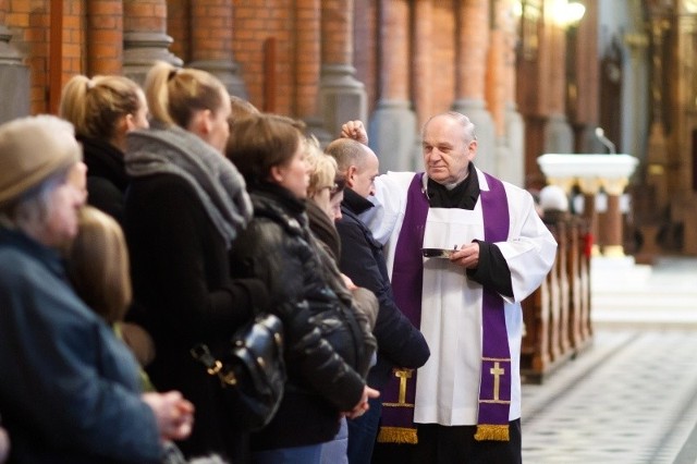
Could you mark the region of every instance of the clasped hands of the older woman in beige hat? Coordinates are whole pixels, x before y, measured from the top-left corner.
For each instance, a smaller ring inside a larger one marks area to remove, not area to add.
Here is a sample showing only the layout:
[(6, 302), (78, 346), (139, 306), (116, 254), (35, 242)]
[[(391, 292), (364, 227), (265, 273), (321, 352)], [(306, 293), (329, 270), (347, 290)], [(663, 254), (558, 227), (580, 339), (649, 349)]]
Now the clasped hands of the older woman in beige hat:
[(164, 440), (183, 440), (192, 432), (194, 405), (179, 391), (144, 393), (143, 401), (155, 413), (160, 437)]

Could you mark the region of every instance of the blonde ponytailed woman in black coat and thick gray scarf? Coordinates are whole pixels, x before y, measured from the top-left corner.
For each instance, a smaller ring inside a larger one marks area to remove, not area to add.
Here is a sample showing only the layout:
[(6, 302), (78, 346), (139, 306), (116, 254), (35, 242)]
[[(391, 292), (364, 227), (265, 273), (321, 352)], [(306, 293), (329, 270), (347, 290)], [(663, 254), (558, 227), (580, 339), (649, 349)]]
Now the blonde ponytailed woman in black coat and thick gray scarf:
[(255, 279), (231, 279), (228, 253), (252, 217), (245, 183), (223, 157), (230, 95), (213, 75), (169, 63), (145, 78), (150, 127), (126, 136), (124, 232), (136, 312), (156, 357), (147, 367), (161, 390), (176, 389), (196, 406), (196, 427), (179, 443), (186, 456), (247, 459), (247, 434), (223, 407), (220, 384), (189, 350), (225, 343), (268, 291)]

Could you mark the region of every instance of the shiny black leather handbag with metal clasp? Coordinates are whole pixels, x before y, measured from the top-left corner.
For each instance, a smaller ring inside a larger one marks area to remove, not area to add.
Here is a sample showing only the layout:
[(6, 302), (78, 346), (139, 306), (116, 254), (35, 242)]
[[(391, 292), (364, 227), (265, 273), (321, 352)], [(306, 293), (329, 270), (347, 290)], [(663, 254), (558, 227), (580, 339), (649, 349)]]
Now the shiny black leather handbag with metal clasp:
[(257, 316), (216, 350), (216, 355), (203, 343), (192, 347), (191, 354), (220, 379), (223, 401), (241, 429), (259, 430), (271, 422), (286, 378), (281, 319), (271, 314)]

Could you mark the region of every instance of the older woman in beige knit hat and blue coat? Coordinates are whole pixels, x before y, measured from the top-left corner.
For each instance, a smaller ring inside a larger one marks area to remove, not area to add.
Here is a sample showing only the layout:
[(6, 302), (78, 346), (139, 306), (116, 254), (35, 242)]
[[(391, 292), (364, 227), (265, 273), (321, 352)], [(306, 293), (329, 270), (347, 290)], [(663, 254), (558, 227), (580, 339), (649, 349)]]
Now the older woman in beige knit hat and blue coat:
[(59, 249), (84, 204), (82, 154), (50, 115), (0, 125), (0, 411), (10, 462), (157, 463), (185, 438), (179, 392), (139, 394), (129, 350), (69, 285)]

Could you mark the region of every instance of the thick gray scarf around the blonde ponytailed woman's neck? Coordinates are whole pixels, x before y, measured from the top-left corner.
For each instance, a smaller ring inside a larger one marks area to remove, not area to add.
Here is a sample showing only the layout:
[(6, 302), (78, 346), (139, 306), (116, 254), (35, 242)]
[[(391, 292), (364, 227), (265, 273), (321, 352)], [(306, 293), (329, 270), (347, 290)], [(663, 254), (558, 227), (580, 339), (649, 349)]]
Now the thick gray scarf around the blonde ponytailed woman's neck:
[(228, 246), (252, 219), (244, 179), (227, 158), (195, 134), (179, 126), (154, 124), (130, 132), (126, 171), (134, 178), (174, 174), (186, 180)]

